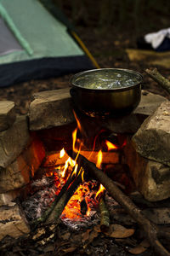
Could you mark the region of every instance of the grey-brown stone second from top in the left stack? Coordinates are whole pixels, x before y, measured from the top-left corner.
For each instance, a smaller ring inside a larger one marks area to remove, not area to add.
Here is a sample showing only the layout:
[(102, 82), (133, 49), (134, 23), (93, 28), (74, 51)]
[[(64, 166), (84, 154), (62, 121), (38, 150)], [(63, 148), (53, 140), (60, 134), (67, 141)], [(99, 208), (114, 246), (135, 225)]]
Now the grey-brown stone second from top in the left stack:
[(0, 167), (10, 165), (26, 148), (29, 139), (27, 118), (18, 116), (8, 130), (0, 132)]

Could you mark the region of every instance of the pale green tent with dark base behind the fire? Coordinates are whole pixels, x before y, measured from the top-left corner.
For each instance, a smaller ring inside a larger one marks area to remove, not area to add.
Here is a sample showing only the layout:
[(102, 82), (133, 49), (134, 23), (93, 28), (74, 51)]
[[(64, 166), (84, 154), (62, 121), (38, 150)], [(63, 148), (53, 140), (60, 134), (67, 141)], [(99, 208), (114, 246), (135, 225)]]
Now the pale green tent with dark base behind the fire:
[(52, 1), (0, 0), (0, 87), (94, 67), (93, 56)]

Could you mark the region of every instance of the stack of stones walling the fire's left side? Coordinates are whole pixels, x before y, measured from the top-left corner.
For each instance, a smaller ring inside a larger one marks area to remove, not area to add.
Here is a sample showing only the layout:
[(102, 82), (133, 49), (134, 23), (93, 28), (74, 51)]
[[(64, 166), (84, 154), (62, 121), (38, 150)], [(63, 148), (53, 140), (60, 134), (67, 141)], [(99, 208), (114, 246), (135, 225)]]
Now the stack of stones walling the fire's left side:
[(14, 199), (30, 182), (45, 155), (28, 129), (26, 116), (16, 116), (14, 102), (0, 102), (0, 240), (30, 231), (24, 212)]

